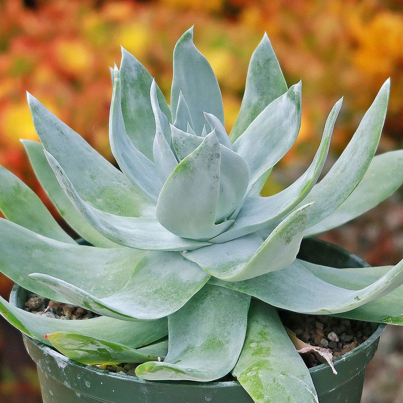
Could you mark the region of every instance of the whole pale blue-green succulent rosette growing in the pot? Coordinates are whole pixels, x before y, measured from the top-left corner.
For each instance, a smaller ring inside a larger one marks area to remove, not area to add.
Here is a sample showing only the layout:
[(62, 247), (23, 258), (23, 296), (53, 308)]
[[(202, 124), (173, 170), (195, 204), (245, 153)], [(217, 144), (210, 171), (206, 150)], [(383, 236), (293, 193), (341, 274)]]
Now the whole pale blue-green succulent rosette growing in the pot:
[(374, 157), (389, 80), (318, 183), (342, 100), (307, 170), (262, 197), (301, 123), (301, 82), (287, 87), (266, 35), (229, 136), (219, 85), (192, 28), (174, 49), (171, 106), (124, 49), (111, 73), (109, 140), (120, 170), (29, 94), (41, 143), (23, 141), (51, 201), (93, 246), (78, 244), (30, 188), (0, 170), (7, 218), (0, 270), (34, 293), (102, 316), (58, 320), (4, 299), (2, 314), (85, 364), (140, 363), (137, 376), (151, 380), (231, 372), (256, 402), (285, 394), (317, 401), (278, 308), (403, 324), (402, 262), (342, 270), (296, 258), (304, 237), (361, 215), (403, 182), (401, 150)]

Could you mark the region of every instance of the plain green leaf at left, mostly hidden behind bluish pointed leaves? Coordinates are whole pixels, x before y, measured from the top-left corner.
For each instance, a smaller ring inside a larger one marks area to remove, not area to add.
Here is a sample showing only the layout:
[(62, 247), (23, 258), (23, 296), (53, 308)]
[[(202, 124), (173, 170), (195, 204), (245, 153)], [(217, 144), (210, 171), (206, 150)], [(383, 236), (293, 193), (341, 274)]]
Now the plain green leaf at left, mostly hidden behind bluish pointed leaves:
[[(38, 178), (40, 184), (46, 194), (52, 201), (53, 205), (60, 213), (61, 217), (72, 227), (80, 236), (94, 246), (112, 248), (118, 247), (116, 243), (110, 241), (96, 231), (90, 224), (80, 215), (72, 202), (65, 195), (62, 188), (57, 182), (56, 177), (50, 168), (43, 153), (43, 147), (40, 143), (31, 140), (22, 140), (25, 150), (28, 154), (32, 168)], [(22, 224), (22, 223), (21, 223)], [(23, 225), (23, 224), (22, 224)], [(35, 231), (38, 232), (38, 231)], [(42, 234), (45, 235), (45, 234)]]

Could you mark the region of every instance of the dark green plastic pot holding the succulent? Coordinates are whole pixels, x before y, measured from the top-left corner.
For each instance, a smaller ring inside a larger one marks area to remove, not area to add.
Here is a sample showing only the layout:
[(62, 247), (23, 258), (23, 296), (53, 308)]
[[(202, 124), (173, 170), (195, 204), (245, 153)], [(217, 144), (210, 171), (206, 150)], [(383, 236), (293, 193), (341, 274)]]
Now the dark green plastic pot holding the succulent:
[[(346, 250), (315, 239), (303, 242), (300, 257), (335, 267), (368, 266)], [(26, 297), (27, 291), (15, 286), (10, 302), (24, 307)], [(327, 364), (309, 370), (320, 403), (360, 403), (365, 370), (385, 326), (374, 323), (367, 341), (334, 361), (338, 375)], [(237, 381), (146, 381), (79, 364), (36, 340), (23, 338), (38, 368), (43, 403), (253, 403)]]

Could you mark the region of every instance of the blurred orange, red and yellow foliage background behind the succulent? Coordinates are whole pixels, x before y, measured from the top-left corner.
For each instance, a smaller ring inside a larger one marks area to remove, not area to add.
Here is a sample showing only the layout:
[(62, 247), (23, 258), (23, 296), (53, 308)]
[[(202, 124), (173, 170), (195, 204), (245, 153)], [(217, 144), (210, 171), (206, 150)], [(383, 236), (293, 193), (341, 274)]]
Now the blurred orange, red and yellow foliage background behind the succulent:
[[(309, 164), (327, 113), (344, 95), (328, 158), (329, 164), (334, 161), (389, 76), (391, 98), (379, 150), (402, 146), (400, 0), (0, 0), (0, 16), (0, 164), (23, 178), (44, 200), (19, 143), (20, 138), (37, 139), (25, 91), (112, 160), (107, 136), (111, 95), (108, 66), (119, 64), (119, 45), (149, 69), (169, 99), (172, 50), (179, 36), (193, 24), (195, 43), (211, 62), (223, 92), (228, 130), (240, 106), (250, 55), (264, 31), (288, 84), (302, 79), (300, 136), (266, 183), (265, 195), (295, 180)], [(360, 254), (371, 264), (396, 263), (403, 256), (403, 209), (399, 203), (400, 196), (396, 195), (367, 216), (322, 238)], [(1, 277), (0, 293), (7, 296), (10, 287), (11, 283)], [(389, 344), (401, 341), (401, 333), (395, 333), (388, 336), (392, 340)], [(12, 343), (18, 338), (4, 321), (0, 322), (0, 349), (3, 346), (4, 351), (0, 397), (7, 397), (10, 403), (38, 403), (35, 371), (25, 353), (17, 348), (12, 357), (5, 353), (10, 337)], [(400, 354), (396, 349), (393, 354)], [(402, 361), (403, 355), (399, 357)], [(378, 364), (386, 365), (383, 361)], [(403, 389), (398, 391), (398, 384), (403, 380), (402, 368), (397, 368), (400, 375), (396, 376), (401, 379), (396, 378), (390, 398), (385, 397), (390, 387), (385, 387), (381, 400), (371, 400), (367, 394), (365, 401), (401, 403)], [(371, 388), (368, 384), (366, 390), (383, 390)], [(400, 400), (393, 400), (394, 395)]]

